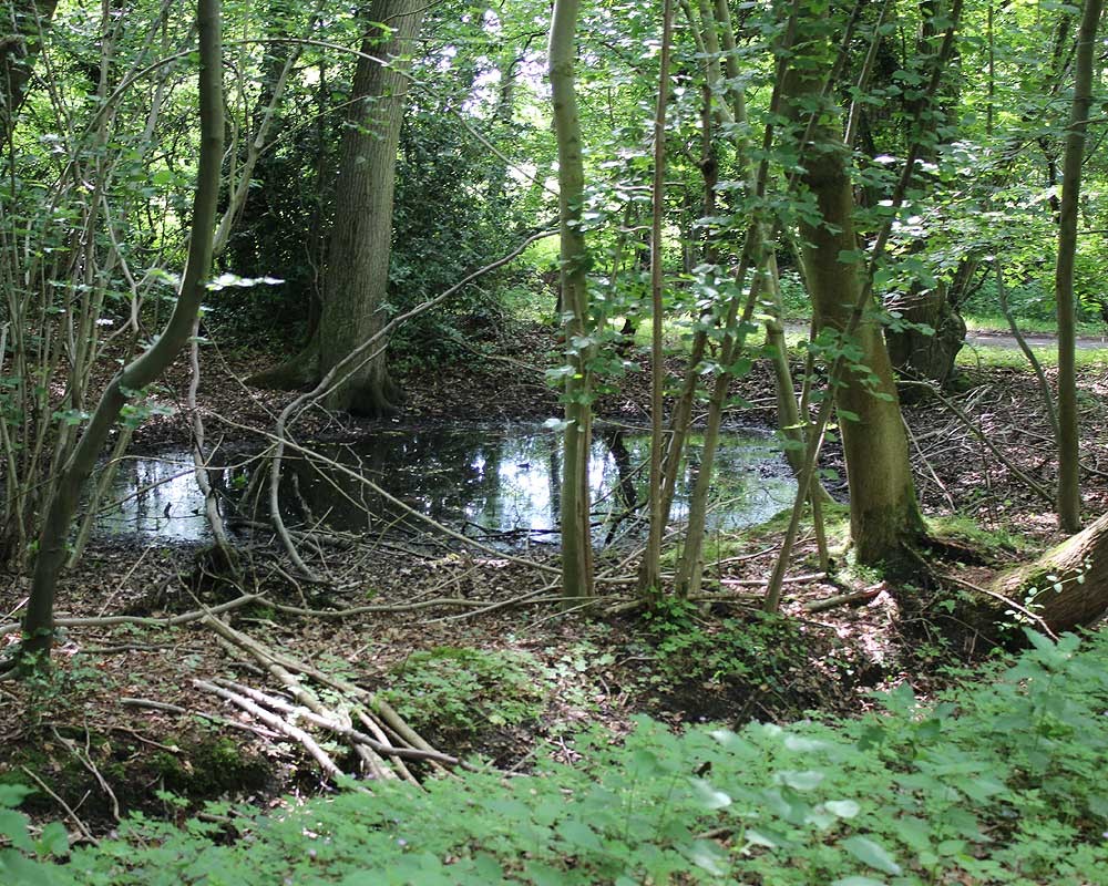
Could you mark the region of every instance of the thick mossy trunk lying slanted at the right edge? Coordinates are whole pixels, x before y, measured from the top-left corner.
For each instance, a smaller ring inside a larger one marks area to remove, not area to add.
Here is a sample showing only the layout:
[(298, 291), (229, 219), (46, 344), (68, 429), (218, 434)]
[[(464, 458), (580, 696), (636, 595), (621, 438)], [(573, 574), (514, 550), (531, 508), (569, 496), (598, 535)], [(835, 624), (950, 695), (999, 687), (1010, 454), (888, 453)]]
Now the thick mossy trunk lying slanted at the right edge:
[(1091, 625), (1108, 614), (1108, 514), (1034, 563), (1001, 576), (993, 590), (1054, 631)]

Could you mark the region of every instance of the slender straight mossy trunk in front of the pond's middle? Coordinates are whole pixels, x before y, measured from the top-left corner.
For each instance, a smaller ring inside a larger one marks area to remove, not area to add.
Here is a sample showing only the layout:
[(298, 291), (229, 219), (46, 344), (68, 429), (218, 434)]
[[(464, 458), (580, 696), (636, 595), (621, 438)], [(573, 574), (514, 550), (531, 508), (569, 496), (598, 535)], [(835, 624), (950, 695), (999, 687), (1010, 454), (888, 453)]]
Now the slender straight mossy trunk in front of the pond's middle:
[(562, 311), (568, 362), (565, 380), (565, 459), (562, 474), (562, 586), (566, 596), (593, 596), (593, 542), (588, 521), (588, 455), (592, 444), (593, 348), (584, 341), (592, 327), (581, 231), (585, 193), (581, 117), (574, 85), (578, 0), (555, 0), (551, 21), (550, 81), (558, 157), (558, 216), (562, 241)]

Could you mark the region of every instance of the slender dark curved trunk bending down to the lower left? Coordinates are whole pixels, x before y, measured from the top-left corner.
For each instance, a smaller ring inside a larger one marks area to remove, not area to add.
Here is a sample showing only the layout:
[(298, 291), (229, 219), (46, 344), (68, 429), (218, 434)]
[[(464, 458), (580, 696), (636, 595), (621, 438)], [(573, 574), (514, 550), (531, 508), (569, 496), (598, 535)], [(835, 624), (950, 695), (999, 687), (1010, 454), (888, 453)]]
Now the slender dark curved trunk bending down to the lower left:
[(219, 0), (198, 0), (201, 154), (193, 200), (188, 258), (181, 291), (162, 334), (137, 359), (109, 382), (73, 455), (59, 477), (39, 535), (38, 559), (27, 615), (21, 655), (48, 653), (53, 635), (58, 576), (65, 562), (65, 547), (73, 515), (85, 480), (92, 473), (104, 443), (127, 400), (156, 380), (176, 358), (192, 334), (193, 322), (206, 291), (212, 267), (212, 239), (219, 195), (223, 159), (223, 60)]

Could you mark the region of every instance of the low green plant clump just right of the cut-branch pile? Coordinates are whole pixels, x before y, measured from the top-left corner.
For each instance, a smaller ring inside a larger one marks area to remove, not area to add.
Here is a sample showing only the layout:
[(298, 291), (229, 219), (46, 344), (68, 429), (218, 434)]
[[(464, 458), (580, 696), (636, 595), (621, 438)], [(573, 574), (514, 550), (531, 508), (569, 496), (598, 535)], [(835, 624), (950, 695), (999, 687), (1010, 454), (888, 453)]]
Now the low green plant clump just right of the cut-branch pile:
[(524, 652), (440, 646), (393, 668), (381, 696), (417, 730), (456, 746), (537, 720), (540, 673)]

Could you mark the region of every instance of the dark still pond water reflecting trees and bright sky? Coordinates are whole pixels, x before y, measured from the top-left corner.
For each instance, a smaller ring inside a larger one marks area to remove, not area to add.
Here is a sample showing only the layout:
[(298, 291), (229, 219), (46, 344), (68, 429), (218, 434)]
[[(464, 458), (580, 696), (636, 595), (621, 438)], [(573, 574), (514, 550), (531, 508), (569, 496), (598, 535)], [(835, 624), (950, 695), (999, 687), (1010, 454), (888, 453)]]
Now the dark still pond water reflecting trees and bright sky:
[[(699, 441), (686, 465), (673, 519), (686, 514)], [(535, 425), (482, 429), (390, 429), (349, 445), (325, 445), (320, 454), (372, 480), (404, 505), (475, 538), (515, 544), (555, 542), (561, 440)], [(649, 439), (642, 433), (598, 429), (589, 476), (598, 540), (634, 532), (633, 505), (645, 497)], [(215, 453), (212, 478), (224, 513), (264, 521), (266, 482), (257, 463)], [(281, 509), (289, 524), (324, 523), (350, 532), (381, 533), (421, 522), (334, 465), (298, 453), (287, 461)], [(250, 497), (261, 487), (261, 503)], [(738, 528), (768, 519), (792, 503), (796, 483), (765, 432), (727, 433), (716, 456), (710, 516), (714, 528)], [(114, 501), (99, 521), (102, 534), (165, 540), (206, 540), (203, 496), (187, 451), (129, 459), (114, 483)], [(255, 516), (256, 515), (256, 516)]]

